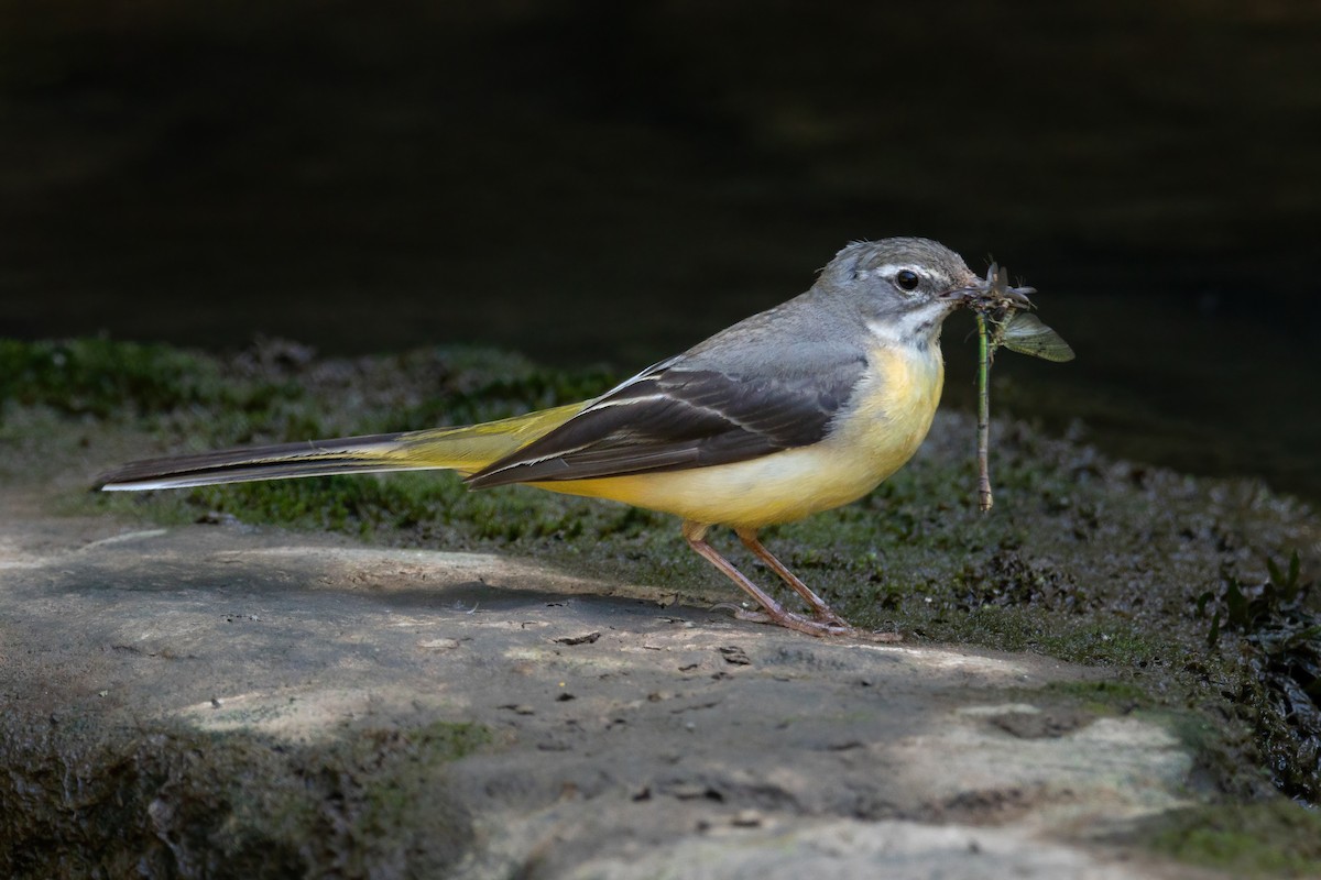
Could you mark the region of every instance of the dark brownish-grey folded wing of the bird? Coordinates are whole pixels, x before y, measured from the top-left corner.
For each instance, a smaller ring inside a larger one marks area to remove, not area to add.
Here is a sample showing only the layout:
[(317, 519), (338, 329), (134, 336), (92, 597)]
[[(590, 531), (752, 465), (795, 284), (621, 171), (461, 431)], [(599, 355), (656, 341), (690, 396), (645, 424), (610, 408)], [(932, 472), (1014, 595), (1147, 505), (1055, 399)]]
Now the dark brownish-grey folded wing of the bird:
[[(686, 365), (687, 364), (687, 365)], [(865, 369), (839, 352), (811, 369), (746, 375), (674, 359), (643, 371), (469, 486), (579, 480), (741, 462), (826, 437)]]

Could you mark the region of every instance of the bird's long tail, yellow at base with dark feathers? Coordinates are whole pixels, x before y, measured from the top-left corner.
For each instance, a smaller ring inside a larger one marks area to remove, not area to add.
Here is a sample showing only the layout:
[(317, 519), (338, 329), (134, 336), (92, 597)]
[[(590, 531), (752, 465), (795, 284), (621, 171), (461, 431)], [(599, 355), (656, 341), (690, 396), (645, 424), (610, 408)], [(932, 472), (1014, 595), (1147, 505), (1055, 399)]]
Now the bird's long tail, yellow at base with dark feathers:
[(325, 474), (367, 474), (444, 468), (474, 474), (577, 414), (571, 404), (464, 427), (435, 427), (402, 434), (223, 449), (131, 462), (98, 478), (107, 492), (185, 488)]

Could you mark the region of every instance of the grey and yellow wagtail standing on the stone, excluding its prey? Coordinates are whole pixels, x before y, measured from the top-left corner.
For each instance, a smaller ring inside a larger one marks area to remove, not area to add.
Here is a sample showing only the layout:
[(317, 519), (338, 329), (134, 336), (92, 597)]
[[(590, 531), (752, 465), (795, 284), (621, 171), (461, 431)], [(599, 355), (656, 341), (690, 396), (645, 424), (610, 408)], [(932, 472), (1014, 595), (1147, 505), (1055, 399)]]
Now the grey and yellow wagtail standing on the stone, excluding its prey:
[[(859, 241), (807, 293), (593, 400), (464, 427), (135, 462), (99, 487), (445, 468), (473, 488), (527, 483), (613, 499), (680, 517), (688, 545), (762, 608), (740, 616), (849, 633), (757, 530), (857, 500), (911, 458), (941, 400), (941, 325), (987, 286), (937, 241)], [(786, 610), (707, 544), (713, 525), (732, 526), (811, 616)]]

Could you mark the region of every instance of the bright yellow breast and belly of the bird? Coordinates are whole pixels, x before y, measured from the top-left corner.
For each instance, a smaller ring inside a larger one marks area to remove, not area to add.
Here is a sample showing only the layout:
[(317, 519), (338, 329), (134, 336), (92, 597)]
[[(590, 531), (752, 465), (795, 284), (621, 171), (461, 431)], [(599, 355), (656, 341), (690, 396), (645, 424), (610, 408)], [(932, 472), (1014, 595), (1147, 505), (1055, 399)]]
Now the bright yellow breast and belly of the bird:
[(762, 458), (688, 471), (532, 483), (613, 499), (708, 525), (761, 528), (855, 501), (921, 446), (945, 381), (939, 347), (872, 352), (869, 373), (826, 439)]

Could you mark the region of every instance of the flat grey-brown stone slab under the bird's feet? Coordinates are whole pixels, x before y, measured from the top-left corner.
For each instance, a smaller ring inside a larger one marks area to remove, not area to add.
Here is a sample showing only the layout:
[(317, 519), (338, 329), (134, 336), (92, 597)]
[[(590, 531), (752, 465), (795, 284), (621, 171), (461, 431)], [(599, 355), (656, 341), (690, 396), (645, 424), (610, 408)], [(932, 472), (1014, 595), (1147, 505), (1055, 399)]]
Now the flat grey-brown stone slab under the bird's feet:
[(1186, 875), (1107, 842), (1184, 802), (1193, 759), (1054, 687), (1094, 669), (498, 555), (12, 511), (20, 876)]

